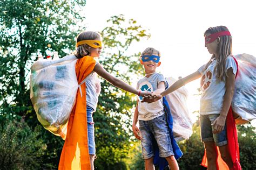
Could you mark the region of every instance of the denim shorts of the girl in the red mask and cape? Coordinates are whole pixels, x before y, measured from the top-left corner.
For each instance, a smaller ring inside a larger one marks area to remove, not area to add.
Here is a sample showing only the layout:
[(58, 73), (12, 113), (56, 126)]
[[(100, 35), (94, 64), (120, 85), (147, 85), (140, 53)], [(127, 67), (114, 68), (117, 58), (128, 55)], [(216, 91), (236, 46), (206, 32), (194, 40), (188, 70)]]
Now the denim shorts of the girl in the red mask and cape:
[(223, 146), (227, 144), (227, 130), (226, 123), (224, 130), (213, 134), (212, 123), (219, 117), (219, 114), (200, 115), (200, 129), (201, 129), (201, 141), (214, 141), (216, 146)]

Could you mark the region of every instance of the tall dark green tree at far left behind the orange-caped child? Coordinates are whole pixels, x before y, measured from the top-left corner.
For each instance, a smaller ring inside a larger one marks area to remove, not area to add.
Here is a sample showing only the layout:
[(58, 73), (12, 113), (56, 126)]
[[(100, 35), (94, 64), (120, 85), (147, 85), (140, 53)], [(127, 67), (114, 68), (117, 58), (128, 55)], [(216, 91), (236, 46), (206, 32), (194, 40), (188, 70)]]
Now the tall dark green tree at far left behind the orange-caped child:
[[(0, 1), (1, 119), (12, 121), (12, 117), (22, 116), (32, 127), (26, 132), (33, 133), (39, 122), (30, 102), (29, 68), (38, 54), (46, 56), (57, 51), (64, 56), (75, 48), (75, 37), (85, 30), (84, 17), (80, 15), (84, 5), (85, 1), (73, 0)], [(46, 164), (57, 168), (63, 140), (42, 127), (40, 136), (47, 150), (35, 159), (44, 163), (41, 168)]]

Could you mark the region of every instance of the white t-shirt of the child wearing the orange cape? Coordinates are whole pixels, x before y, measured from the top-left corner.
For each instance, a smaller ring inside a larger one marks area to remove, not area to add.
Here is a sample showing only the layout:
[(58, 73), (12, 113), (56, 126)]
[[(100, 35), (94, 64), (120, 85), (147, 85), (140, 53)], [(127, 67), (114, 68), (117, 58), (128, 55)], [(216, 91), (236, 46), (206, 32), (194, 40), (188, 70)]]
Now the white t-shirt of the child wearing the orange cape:
[[(95, 66), (98, 64), (96, 62)], [(98, 96), (100, 94), (100, 82), (98, 79), (98, 74), (95, 72), (91, 72), (86, 77), (86, 105), (93, 108), (96, 111), (97, 103), (98, 103)]]

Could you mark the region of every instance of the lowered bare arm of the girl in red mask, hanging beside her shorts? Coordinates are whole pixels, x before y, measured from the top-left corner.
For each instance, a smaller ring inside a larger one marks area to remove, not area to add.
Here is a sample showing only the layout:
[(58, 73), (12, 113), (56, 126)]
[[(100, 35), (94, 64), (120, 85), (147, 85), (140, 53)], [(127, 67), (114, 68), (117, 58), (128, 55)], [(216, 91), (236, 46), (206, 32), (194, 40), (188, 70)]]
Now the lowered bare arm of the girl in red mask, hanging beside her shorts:
[(223, 107), (220, 111), (220, 116), (215, 119), (213, 122), (213, 133), (219, 133), (223, 131), (225, 122), (226, 122), (226, 117), (227, 117), (227, 112), (230, 109), (232, 98), (234, 95), (234, 82), (235, 82), (235, 75), (233, 74), (233, 68), (228, 68), (227, 69), (227, 76), (226, 77), (226, 93), (224, 95), (224, 101), (223, 101)]

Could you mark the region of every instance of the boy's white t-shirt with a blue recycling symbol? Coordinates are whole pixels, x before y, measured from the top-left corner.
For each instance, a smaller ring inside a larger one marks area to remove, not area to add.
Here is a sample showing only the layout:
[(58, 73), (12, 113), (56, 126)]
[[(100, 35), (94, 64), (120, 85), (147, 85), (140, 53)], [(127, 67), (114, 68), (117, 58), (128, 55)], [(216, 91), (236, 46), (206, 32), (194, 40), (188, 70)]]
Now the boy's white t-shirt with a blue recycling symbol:
[[(167, 86), (164, 76), (159, 73), (154, 73), (150, 77), (140, 79), (137, 84), (137, 89), (142, 91), (155, 91), (158, 88), (158, 84), (162, 81), (165, 82), (165, 86)], [(139, 97), (140, 100), (142, 100), (142, 97)], [(150, 121), (164, 114), (163, 99), (153, 103), (142, 103), (140, 100), (138, 102), (139, 120)]]

